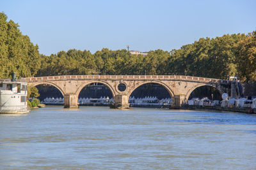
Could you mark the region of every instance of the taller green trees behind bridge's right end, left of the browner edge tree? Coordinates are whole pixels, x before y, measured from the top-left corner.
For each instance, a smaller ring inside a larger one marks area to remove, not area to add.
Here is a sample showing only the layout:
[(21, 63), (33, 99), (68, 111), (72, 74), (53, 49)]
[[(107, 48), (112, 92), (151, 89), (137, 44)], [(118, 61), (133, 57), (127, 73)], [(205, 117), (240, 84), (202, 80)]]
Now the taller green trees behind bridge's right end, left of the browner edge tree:
[(224, 35), (216, 38), (200, 38), (191, 45), (172, 51), (169, 67), (174, 74), (189, 74), (210, 78), (226, 79), (237, 71), (237, 42), (244, 34)]

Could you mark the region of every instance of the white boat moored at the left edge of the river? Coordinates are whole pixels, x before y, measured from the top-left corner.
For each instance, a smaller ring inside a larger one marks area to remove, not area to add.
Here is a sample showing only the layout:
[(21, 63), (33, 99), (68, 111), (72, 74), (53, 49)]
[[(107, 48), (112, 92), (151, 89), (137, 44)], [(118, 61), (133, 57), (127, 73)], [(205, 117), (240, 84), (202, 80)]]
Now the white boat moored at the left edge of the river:
[(28, 113), (26, 80), (0, 79), (0, 113)]

